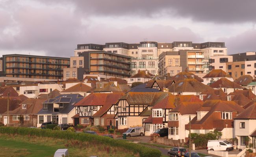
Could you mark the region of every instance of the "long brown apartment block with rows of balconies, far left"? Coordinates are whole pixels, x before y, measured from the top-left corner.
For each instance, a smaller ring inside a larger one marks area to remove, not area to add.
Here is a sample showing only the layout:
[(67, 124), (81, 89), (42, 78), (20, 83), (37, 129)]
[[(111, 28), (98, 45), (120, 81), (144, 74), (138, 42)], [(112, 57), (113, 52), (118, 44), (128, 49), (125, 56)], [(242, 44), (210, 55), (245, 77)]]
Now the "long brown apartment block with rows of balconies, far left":
[(11, 54), (3, 55), (2, 69), (6, 77), (62, 80), (69, 61), (64, 57)]

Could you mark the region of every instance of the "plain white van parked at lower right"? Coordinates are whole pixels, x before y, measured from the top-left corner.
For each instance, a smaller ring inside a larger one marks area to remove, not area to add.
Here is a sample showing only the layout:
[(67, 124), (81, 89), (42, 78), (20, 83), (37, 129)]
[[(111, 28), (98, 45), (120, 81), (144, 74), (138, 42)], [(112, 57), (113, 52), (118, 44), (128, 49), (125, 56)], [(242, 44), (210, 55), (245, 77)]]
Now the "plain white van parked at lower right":
[(207, 150), (230, 151), (233, 149), (234, 146), (225, 140), (209, 140), (207, 143)]

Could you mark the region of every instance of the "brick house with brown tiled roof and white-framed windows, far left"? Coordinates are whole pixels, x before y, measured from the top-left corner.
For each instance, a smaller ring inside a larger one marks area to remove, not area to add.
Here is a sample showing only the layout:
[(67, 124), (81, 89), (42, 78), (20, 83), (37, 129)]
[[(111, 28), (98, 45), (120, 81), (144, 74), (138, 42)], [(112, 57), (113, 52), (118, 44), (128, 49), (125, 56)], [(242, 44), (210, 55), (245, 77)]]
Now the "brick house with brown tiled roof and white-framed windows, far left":
[[(45, 99), (27, 99), (19, 104), (15, 110), (9, 111), (9, 125), (11, 126), (37, 126), (37, 113), (43, 108)], [(7, 111), (3, 114), (7, 117)], [(23, 124), (20, 117), (23, 117)]]

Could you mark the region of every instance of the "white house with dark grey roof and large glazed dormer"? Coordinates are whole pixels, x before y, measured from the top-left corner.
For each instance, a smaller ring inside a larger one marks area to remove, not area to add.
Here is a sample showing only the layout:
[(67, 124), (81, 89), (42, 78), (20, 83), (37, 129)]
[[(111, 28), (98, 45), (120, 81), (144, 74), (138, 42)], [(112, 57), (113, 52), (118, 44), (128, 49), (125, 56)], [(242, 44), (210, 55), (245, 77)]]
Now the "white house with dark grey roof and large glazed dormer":
[(37, 113), (37, 127), (43, 122), (73, 124), (72, 117), (76, 114), (75, 104), (83, 99), (80, 94), (61, 94), (54, 99), (43, 102), (43, 109)]

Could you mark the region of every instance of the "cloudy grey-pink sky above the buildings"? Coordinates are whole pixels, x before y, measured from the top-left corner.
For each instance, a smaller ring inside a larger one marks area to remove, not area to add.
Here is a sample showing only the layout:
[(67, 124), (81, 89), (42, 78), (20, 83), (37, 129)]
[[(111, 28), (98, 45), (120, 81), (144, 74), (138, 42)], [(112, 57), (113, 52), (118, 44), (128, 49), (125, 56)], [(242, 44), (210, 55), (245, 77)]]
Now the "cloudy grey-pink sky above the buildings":
[(71, 57), (77, 44), (225, 42), (256, 51), (254, 0), (0, 0), (0, 57)]

